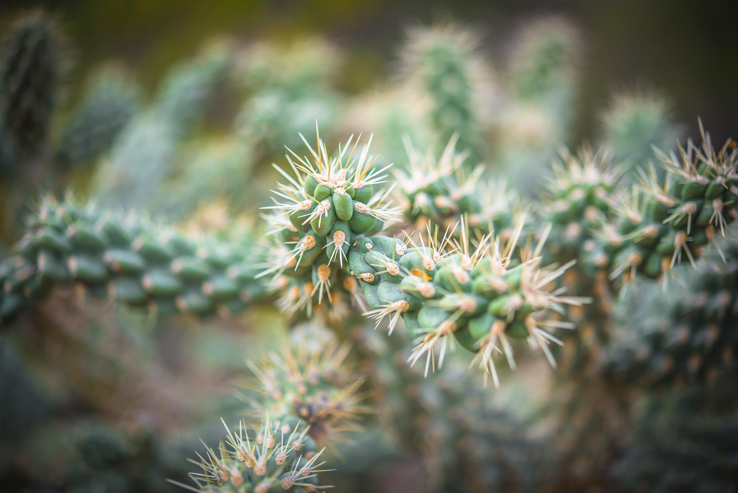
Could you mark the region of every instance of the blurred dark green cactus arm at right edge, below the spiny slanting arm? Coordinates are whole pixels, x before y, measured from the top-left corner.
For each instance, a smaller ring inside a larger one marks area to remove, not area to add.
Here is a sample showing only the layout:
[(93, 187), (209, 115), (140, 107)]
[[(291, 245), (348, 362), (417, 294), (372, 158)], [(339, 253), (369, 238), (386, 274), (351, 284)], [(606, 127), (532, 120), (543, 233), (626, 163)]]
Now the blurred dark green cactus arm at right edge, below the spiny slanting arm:
[[(668, 387), (714, 380), (734, 367), (738, 303), (738, 243), (730, 238), (720, 258), (704, 259), (687, 276), (687, 289), (668, 298), (638, 286), (624, 304), (603, 371), (625, 385)], [(717, 257), (717, 254), (713, 255)]]

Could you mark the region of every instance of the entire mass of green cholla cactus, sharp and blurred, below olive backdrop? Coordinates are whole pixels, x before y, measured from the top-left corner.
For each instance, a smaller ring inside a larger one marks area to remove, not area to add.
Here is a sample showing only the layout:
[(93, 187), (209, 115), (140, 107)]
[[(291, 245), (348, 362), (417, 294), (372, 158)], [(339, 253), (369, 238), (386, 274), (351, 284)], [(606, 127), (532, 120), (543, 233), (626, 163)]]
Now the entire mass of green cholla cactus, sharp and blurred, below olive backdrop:
[(60, 31), (0, 57), (3, 491), (736, 488), (738, 145), (657, 90), (574, 142), (568, 19), (499, 66), (417, 25), (351, 88), (218, 38), (68, 108)]

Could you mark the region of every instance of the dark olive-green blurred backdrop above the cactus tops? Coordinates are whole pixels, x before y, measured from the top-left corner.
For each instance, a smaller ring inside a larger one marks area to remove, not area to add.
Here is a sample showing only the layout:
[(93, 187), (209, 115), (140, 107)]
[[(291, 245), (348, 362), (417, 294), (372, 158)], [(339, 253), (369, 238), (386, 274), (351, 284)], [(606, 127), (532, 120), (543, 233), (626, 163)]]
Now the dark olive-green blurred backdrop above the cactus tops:
[(489, 59), (500, 62), (520, 24), (559, 13), (572, 19), (585, 38), (573, 141), (593, 137), (596, 111), (613, 91), (637, 84), (663, 91), (691, 134), (697, 127), (694, 116), (700, 115), (723, 140), (738, 111), (738, 41), (730, 10), (720, 1), (7, 0), (0, 13), (7, 24), (14, 12), (33, 5), (61, 19), (79, 68), (72, 82), (113, 58), (151, 90), (172, 63), (213, 35), (249, 41), (320, 34), (347, 50), (339, 86), (355, 93), (391, 72), (408, 25), (444, 18), (467, 23), (483, 35)]

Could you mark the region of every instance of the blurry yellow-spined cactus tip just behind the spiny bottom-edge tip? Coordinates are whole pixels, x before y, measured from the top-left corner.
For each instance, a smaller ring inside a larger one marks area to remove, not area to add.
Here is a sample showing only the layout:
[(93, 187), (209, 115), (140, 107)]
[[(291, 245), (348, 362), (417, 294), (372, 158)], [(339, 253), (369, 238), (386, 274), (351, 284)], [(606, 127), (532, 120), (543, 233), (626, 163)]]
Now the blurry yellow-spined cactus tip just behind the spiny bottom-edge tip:
[(317, 444), (330, 446), (357, 429), (364, 408), (358, 389), (363, 383), (346, 361), (350, 346), (339, 345), (326, 328), (304, 324), (294, 328), (275, 353), (249, 361), (260, 391), (255, 413), (283, 423), (302, 422)]

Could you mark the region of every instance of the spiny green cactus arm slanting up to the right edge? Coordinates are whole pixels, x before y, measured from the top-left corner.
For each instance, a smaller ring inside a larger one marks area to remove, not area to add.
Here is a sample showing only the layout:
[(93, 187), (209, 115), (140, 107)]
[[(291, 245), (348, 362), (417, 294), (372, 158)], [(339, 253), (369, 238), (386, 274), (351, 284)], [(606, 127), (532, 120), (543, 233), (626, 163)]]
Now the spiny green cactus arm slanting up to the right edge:
[(703, 145), (692, 141), (678, 154), (659, 154), (666, 178), (642, 173), (641, 186), (613, 204), (615, 218), (599, 230), (590, 252), (593, 265), (613, 279), (636, 274), (661, 279), (682, 261), (693, 265), (703, 247), (734, 220), (738, 205), (738, 147), (725, 142), (715, 151), (703, 131)]

